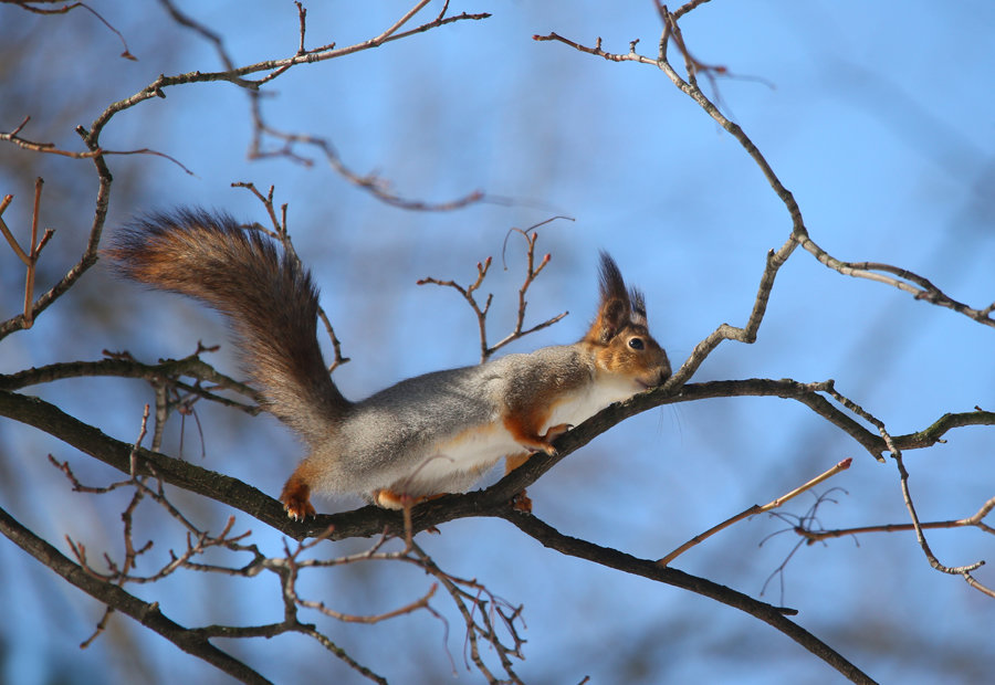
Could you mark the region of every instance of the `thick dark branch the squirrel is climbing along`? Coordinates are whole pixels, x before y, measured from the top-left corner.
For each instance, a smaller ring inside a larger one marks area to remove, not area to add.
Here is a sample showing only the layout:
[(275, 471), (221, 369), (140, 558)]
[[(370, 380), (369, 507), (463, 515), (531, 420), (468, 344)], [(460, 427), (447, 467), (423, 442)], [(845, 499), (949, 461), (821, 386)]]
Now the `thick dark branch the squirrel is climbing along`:
[[(493, 516), (502, 512), (515, 494), (597, 435), (631, 415), (674, 402), (743, 396), (793, 399), (841, 428), (869, 453), (880, 455), (886, 449), (883, 440), (819, 394), (826, 386), (827, 383), (799, 383), (793, 380), (748, 379), (693, 383), (682, 388), (675, 396), (668, 396), (663, 390), (637, 396), (627, 402), (612, 404), (576, 429), (561, 435), (555, 442), (558, 450), (556, 456), (534, 454), (523, 466), (485, 491), (447, 495), (417, 506), (412, 513), (413, 531), (458, 518)], [(53, 404), (38, 398), (0, 390), (0, 415), (41, 429), (122, 473), (129, 473), (133, 445), (105, 435)], [(963, 425), (995, 425), (995, 413), (978, 410), (965, 414), (945, 414), (924, 431), (898, 435), (892, 440), (896, 445), (907, 450), (929, 446), (940, 441), (945, 431)], [(157, 452), (140, 450), (139, 455), (144, 473), (150, 473), (144, 467), (147, 463), (164, 482), (241, 509), (294, 539), (322, 535), (328, 526), (335, 527), (331, 539), (370, 537), (379, 535), (385, 528), (404, 530), (400, 514), (374, 506), (342, 514), (320, 515), (306, 521), (295, 523), (286, 517), (283, 506), (276, 499), (237, 478)]]

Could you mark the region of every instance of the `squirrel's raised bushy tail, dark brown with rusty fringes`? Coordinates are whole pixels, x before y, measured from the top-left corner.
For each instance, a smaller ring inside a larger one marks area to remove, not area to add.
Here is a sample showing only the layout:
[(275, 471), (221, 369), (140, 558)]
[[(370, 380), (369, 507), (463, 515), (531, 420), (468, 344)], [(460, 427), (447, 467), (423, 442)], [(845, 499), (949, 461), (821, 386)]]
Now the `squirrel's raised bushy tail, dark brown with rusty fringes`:
[(226, 214), (182, 210), (133, 222), (105, 254), (128, 278), (228, 315), (266, 409), (312, 445), (348, 411), (317, 344), (311, 274), (264, 234)]

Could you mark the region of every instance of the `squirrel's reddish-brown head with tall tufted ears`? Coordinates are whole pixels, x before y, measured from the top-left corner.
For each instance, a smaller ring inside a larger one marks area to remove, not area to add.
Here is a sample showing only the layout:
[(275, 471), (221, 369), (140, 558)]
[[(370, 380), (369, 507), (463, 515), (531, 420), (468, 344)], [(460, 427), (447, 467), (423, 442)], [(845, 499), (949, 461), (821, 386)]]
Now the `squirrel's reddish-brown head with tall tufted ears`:
[(600, 272), (598, 316), (582, 342), (594, 348), (600, 371), (630, 379), (633, 391), (663, 384), (670, 378), (670, 361), (649, 333), (642, 293), (626, 287), (606, 252), (601, 252)]

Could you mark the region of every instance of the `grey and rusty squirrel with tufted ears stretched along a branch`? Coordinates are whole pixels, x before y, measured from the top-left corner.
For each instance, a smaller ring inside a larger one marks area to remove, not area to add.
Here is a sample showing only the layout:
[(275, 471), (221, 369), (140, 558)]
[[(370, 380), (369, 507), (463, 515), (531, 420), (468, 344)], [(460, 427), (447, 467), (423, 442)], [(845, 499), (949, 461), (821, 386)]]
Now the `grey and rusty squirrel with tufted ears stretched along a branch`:
[(228, 317), (264, 408), (310, 447), (280, 495), (295, 520), (315, 514), (314, 492), (388, 508), (464, 492), (502, 457), (507, 473), (534, 452), (555, 454), (575, 424), (670, 377), (642, 293), (605, 252), (597, 317), (579, 341), (409, 378), (358, 402), (322, 357), (310, 271), (262, 232), (182, 209), (133, 221), (105, 255), (119, 275)]

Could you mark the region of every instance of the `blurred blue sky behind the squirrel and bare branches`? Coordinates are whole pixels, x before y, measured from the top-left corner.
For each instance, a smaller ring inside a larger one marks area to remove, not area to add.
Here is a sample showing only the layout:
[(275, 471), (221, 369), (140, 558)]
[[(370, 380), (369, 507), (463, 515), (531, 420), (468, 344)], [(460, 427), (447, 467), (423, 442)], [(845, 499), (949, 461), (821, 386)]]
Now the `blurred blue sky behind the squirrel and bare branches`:
[[(92, 6), (122, 31), (138, 62), (117, 59), (119, 43), (91, 15), (35, 18), (0, 8), (0, 40), (28, 36), (38, 50), (38, 59), (18, 74), (42, 78), (34, 99), (25, 99), (30, 110), (10, 114), (0, 128), (10, 130), (31, 114), (25, 136), (73, 146), (74, 125), (92, 120), (107, 102), (159, 73), (219, 67), (211, 48), (172, 25), (156, 3)], [(369, 6), (312, 3), (308, 44), (363, 40), (406, 8), (404, 2)], [(223, 35), (239, 64), (296, 46), (297, 19), (289, 2), (220, 2), (207, 9), (190, 3), (186, 10)], [(277, 202), (290, 205), (297, 251), (314, 270), (323, 305), (353, 359), (335, 377), (352, 398), (475, 360), (469, 309), (452, 292), (416, 286), (418, 278), (465, 283), (476, 261), (494, 256), (485, 285), (495, 294), (489, 333), (492, 340), (503, 337), (523, 265), (521, 244), (512, 236), (509, 270), (500, 268), (505, 234), (556, 214), (574, 221), (541, 230), (540, 247), (552, 252), (553, 261), (531, 291), (528, 316), (537, 322), (564, 309), (570, 315), (514, 350), (582, 335), (594, 313), (599, 249), (609, 250), (626, 277), (646, 291), (651, 329), (675, 365), (719, 324), (743, 324), (767, 250), (778, 247), (790, 230), (784, 205), (757, 167), (654, 67), (610, 63), (531, 39), (555, 31), (593, 44), (600, 36), (611, 52), (626, 52), (639, 39), (638, 50), (653, 54), (660, 25), (652, 4), (461, 1), (451, 11), (493, 17), (292, 70), (271, 84), (264, 112), (276, 127), (327, 137), (352, 168), (376, 171), (400, 194), (447, 201), (480, 189), (500, 201), (454, 212), (408, 212), (356, 190), (320, 160), (311, 168), (279, 159), (249, 161), (244, 94), (230, 84), (192, 85), (143, 103), (107, 128), (106, 147), (153, 148), (193, 171), (148, 156), (113, 158), (123, 199), (112, 199), (108, 229), (135, 213), (178, 204), (262, 220), (258, 201), (230, 183), (274, 185)], [(699, 60), (734, 75), (706, 93), (795, 194), (819, 245), (841, 260), (903, 266), (975, 307), (995, 299), (995, 6), (960, 2), (938, 11), (924, 2), (715, 0), (681, 27)], [(59, 50), (70, 41), (71, 56)], [(102, 70), (98, 77), (86, 66), (94, 64)], [(83, 92), (85, 97), (77, 95)], [(0, 147), (0, 182), (28, 187), (18, 177), (23, 156)], [(57, 226), (63, 242), (53, 247), (56, 261), (46, 272), (54, 277), (71, 263), (74, 243), (84, 240), (94, 181), (85, 162), (44, 164), (51, 171), (43, 173), (53, 175), (45, 197), (78, 205), (60, 210), (60, 217), (76, 219)], [(19, 191), (4, 217), (23, 218), (29, 197)], [(15, 259), (0, 251), (4, 318), (20, 306), (21, 277)], [(78, 297), (48, 310), (31, 331), (3, 340), (0, 371), (95, 359), (103, 349), (127, 348), (147, 360), (178, 357), (198, 339), (224, 340), (222, 323), (195, 305), (114, 282), (101, 267), (81, 284)], [(80, 303), (101, 306), (74, 310)], [(756, 344), (723, 344), (694, 380), (832, 378), (893, 433), (904, 433), (946, 411), (991, 409), (992, 346), (991, 328), (887, 285), (841, 276), (798, 250), (778, 275)], [(214, 359), (235, 368), (228, 346)], [(63, 381), (38, 391), (126, 440), (135, 432), (136, 407), (147, 401), (143, 388), (122, 381)], [(106, 403), (94, 402), (95, 392)], [(219, 408), (200, 412), (207, 426), (203, 465), (275, 495), (298, 453), (282, 426), (233, 418)], [(175, 425), (167, 446), (177, 451), (178, 438)], [(944, 445), (907, 456), (923, 518), (967, 516), (993, 496), (991, 431), (963, 429), (947, 438)], [(189, 432), (187, 439), (190, 450), (197, 440)], [(24, 492), (45, 488), (55, 502), (39, 510), (29, 498), (10, 496), (6, 508), (56, 540), (69, 533), (87, 539), (92, 549), (118, 544), (119, 509), (70, 494), (38, 454), (53, 452), (86, 468), (84, 457), (7, 424), (0, 449)], [(853, 466), (830, 482), (846, 494), (820, 509), (823, 525), (905, 520), (893, 465), (879, 465), (807, 409), (769, 398), (648, 412), (570, 455), (530, 492), (536, 514), (562, 531), (659, 557), (847, 456)], [(98, 468), (93, 473), (113, 477)], [(326, 510), (349, 504), (322, 503)], [(804, 513), (808, 504), (789, 510)], [(277, 554), (279, 538), (253, 524), (241, 521)], [(741, 524), (677, 566), (757, 596), (793, 541), (784, 535), (758, 545), (783, 527), (767, 518)], [(930, 540), (951, 565), (995, 551), (995, 541), (977, 531), (936, 531)], [(621, 673), (645, 683), (834, 678), (754, 619), (559, 557), (500, 521), (451, 524), (425, 545), (443, 568), (525, 604), (528, 643), (520, 672), (526, 682), (579, 682), (590, 674), (607, 683)], [(978, 578), (993, 586), (987, 568)], [(32, 615), (51, 615), (45, 607), (52, 603), (70, 608), (60, 634), (8, 631), (4, 641), (17, 655), (6, 666), (10, 679), (44, 682), (55, 668), (46, 664), (59, 663), (124, 677), (134, 671), (115, 662), (119, 652), (112, 645), (136, 640), (138, 661), (151, 673), (168, 668), (174, 676), (224, 682), (158, 639), (140, 632), (123, 636), (127, 622), (121, 618), (121, 633), (77, 652), (100, 610), (46, 573), (12, 546), (0, 546), (0, 586), (7, 588), (0, 599)], [(425, 579), (411, 573), (399, 580), (384, 569), (357, 575), (352, 579), (362, 588), (357, 597), (377, 605), (425, 589)], [(802, 610), (799, 622), (882, 682), (934, 682), (940, 673), (965, 673), (951, 671), (945, 660), (995, 657), (986, 637), (995, 611), (991, 600), (932, 571), (910, 535), (803, 548), (784, 580), (783, 602)], [(326, 591), (326, 582), (316, 580), (316, 591)], [(223, 598), (228, 609), (237, 609), (237, 620), (248, 622), (263, 620), (260, 615), (274, 608), (274, 587), (256, 586), (245, 583), (228, 594), (217, 580), (184, 577), (164, 591), (175, 593), (168, 609), (181, 622), (213, 622), (211, 598)], [(153, 597), (150, 588), (135, 591)], [(198, 601), (185, 605), (177, 599), (185, 597)], [(765, 599), (782, 601), (776, 582)], [(448, 677), (443, 631), (427, 618), (336, 631), (358, 657), (388, 664), (383, 671), (398, 682)], [(263, 673), (276, 679), (287, 653), (302, 673), (338, 674), (326, 672), (338, 665), (310, 645), (283, 641), (275, 650), (269, 643), (243, 649), (250, 662), (272, 664)], [(459, 665), (460, 635), (450, 635), (449, 649)], [(475, 682), (465, 674), (460, 681)]]

